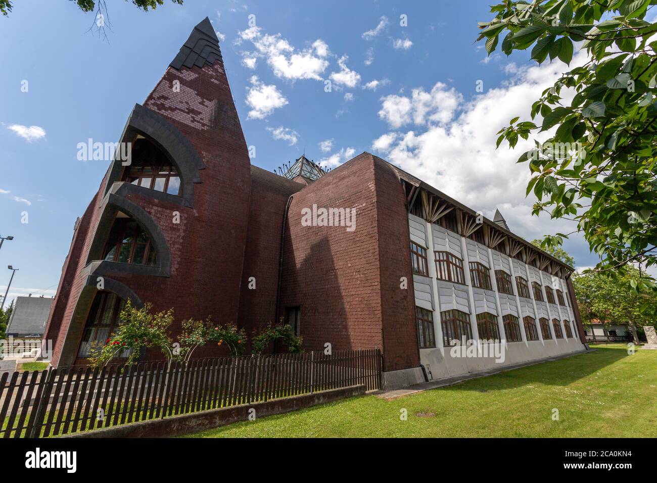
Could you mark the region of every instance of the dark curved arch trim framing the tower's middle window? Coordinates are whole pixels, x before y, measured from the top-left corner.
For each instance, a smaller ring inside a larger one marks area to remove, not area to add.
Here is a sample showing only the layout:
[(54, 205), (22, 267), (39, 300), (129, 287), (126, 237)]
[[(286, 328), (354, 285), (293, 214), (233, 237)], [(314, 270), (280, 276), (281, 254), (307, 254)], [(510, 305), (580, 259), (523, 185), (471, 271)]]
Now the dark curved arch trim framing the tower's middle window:
[[(122, 184), (125, 183), (115, 183), (114, 187), (120, 187)], [(87, 265), (85, 266), (85, 271), (88, 275), (104, 276), (106, 273), (131, 273), (133, 275), (153, 275), (155, 277), (171, 276), (171, 250), (169, 244), (160, 226), (146, 210), (127, 200), (124, 196), (119, 196), (112, 192), (105, 196), (99, 209), (102, 211), (102, 215), (98, 221), (96, 233), (89, 249), (89, 256), (87, 257)], [(120, 262), (101, 260), (102, 248), (110, 233), (110, 229), (112, 229), (112, 223), (114, 223), (116, 213), (119, 211), (137, 221), (144, 231), (148, 233), (158, 255), (158, 264), (156, 266), (122, 264)]]

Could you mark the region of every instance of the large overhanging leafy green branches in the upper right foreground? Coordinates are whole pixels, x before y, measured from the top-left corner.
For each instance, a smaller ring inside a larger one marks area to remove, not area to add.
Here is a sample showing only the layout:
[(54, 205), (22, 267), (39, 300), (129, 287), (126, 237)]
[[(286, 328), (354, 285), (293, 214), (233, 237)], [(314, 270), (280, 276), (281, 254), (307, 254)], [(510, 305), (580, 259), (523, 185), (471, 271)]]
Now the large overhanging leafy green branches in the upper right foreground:
[[(527, 194), (538, 198), (533, 214), (576, 221), (575, 231), (548, 242), (556, 247), (581, 233), (600, 257), (598, 271), (657, 263), (657, 25), (645, 20), (654, 3), (505, 0), (479, 24), (489, 54), (501, 39), (507, 55), (532, 47), (539, 64), (549, 57), (570, 66), (574, 47), (588, 55), (533, 103), (532, 120), (540, 115), (540, 122), (512, 119), (497, 146), (556, 127), (518, 160), (532, 172)], [(648, 289), (654, 280), (642, 273), (637, 285)]]

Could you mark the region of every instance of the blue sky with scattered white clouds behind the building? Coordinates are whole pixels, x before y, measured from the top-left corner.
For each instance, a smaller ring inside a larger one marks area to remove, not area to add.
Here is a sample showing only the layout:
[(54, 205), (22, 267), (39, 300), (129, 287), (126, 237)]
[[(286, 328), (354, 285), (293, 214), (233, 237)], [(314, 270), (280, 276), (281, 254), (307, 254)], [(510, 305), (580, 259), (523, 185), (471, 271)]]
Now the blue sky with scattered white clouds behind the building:
[[(486, 58), (474, 40), (490, 3), (187, 0), (144, 13), (119, 1), (104, 41), (87, 32), (95, 16), (67, 1), (15, 2), (0, 18), (0, 235), (15, 237), (0, 250), (0, 290), (12, 264), (10, 299), (54, 294), (74, 221), (108, 166), (79, 161), (78, 143), (118, 141), (205, 16), (253, 164), (273, 169), (305, 150), (336, 166), (369, 150), (486, 216), (499, 207), (527, 239), (568, 229), (530, 216), (528, 170), (514, 164), (524, 146), (494, 149), (494, 132), (565, 67), (534, 66), (526, 53)], [(566, 249), (595, 264), (583, 240)]]

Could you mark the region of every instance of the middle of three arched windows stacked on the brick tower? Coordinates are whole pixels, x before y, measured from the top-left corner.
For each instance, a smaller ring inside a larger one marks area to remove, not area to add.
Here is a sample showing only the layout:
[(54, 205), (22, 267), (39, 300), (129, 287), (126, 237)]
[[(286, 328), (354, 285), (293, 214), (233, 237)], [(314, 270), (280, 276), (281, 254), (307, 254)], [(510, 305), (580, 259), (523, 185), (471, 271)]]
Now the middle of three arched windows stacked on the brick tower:
[(103, 260), (157, 265), (155, 246), (139, 223), (119, 212), (103, 250)]

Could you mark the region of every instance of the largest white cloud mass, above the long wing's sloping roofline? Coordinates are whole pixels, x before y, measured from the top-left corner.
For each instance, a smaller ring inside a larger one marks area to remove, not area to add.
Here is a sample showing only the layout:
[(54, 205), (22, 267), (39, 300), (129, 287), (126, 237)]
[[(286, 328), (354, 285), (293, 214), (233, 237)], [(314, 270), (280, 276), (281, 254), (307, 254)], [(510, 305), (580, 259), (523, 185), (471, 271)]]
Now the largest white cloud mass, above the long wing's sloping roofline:
[[(571, 67), (581, 65), (579, 53)], [(516, 164), (520, 154), (533, 147), (532, 137), (520, 140), (516, 149), (505, 144), (495, 149), (497, 131), (520, 116), (530, 119), (532, 103), (569, 68), (562, 62), (524, 66), (501, 87), (464, 101), (463, 95), (437, 83), (430, 92), (413, 89), (411, 96), (382, 97), (380, 118), (396, 129), (374, 139), (373, 150), (403, 170), (423, 179), (449, 196), (492, 218), (499, 208), (512, 231), (528, 240), (547, 233), (568, 233), (572, 222), (532, 216), (533, 195), (526, 198), (530, 170)], [(564, 95), (570, 105), (572, 93)], [(540, 123), (539, 119), (535, 122)], [(542, 133), (547, 139), (552, 131)]]

